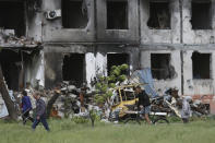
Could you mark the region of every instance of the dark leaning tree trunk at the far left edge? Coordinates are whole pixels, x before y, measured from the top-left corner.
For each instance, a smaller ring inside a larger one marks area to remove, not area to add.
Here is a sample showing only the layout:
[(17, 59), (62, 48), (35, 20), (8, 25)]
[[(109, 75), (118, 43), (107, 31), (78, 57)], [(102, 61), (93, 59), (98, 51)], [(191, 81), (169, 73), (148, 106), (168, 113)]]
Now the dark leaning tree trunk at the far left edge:
[(11, 97), (9, 95), (9, 91), (7, 88), (4, 79), (3, 79), (3, 73), (1, 70), (1, 64), (0, 64), (0, 93), (2, 95), (2, 98), (5, 103), (5, 106), (8, 108), (9, 111), (9, 116), (12, 120), (16, 120), (17, 119), (17, 112), (16, 109), (14, 107), (14, 103), (11, 100)]

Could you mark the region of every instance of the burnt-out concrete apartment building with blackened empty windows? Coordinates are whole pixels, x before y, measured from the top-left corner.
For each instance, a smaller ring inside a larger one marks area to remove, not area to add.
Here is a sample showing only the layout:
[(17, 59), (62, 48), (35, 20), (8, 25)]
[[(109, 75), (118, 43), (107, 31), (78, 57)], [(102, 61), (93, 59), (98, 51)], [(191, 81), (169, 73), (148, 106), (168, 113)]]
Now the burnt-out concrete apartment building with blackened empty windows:
[(213, 0), (0, 0), (1, 67), (14, 91), (151, 68), (156, 91), (176, 86), (215, 114), (214, 10)]

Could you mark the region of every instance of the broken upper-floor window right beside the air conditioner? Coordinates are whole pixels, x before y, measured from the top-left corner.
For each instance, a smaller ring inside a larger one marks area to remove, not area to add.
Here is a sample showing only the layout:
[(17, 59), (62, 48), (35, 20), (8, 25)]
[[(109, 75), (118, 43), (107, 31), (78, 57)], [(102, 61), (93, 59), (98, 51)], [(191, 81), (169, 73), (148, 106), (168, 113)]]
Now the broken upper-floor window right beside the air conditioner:
[(62, 26), (85, 28), (88, 23), (84, 0), (62, 0)]

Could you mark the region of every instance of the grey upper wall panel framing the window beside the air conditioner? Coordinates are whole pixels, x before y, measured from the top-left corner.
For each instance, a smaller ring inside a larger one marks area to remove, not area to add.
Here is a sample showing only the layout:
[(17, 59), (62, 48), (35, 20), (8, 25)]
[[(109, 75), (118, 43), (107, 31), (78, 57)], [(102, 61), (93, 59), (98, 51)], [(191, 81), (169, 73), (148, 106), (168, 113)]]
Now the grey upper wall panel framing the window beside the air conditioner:
[[(44, 41), (94, 41), (94, 0), (86, 0), (89, 21), (86, 28), (63, 28), (62, 16), (56, 20), (46, 20), (44, 16)], [(45, 0), (43, 11), (61, 10), (61, 0)]]

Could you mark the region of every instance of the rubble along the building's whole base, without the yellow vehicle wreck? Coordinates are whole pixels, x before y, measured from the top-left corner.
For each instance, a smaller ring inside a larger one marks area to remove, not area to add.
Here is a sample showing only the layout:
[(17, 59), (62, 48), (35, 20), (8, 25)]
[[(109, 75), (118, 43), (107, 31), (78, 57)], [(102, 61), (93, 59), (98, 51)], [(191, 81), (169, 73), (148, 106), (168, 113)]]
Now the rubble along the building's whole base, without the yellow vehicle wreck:
[[(119, 86), (128, 86), (128, 84), (123, 83)], [(134, 85), (131, 85), (131, 87)], [(31, 102), (33, 104), (33, 108), (35, 108), (35, 99), (33, 98), (33, 94), (35, 92), (40, 92), (43, 94), (43, 99), (49, 104), (51, 98), (57, 94), (58, 97), (51, 105), (50, 110), (50, 117), (61, 119), (61, 118), (73, 118), (73, 117), (89, 117), (89, 110), (94, 109), (100, 116), (100, 119), (103, 121), (117, 121), (120, 120), (119, 114), (121, 108), (114, 109), (112, 107), (115, 104), (112, 103), (111, 106), (98, 107), (97, 104), (94, 102), (94, 95), (95, 92), (88, 88), (86, 85), (76, 87), (75, 85), (72, 85), (70, 82), (63, 82), (58, 85), (58, 90), (45, 90), (43, 87), (40, 88), (33, 88), (28, 87), (25, 90), (28, 93), (28, 96), (31, 97)], [(134, 94), (134, 91), (130, 87), (123, 87), (122, 91), (124, 93), (123, 96), (127, 96), (129, 98), (130, 94)], [(13, 91), (9, 91), (11, 98), (14, 102), (14, 106), (17, 106), (21, 104), (22, 94), (21, 93), (13, 93)], [(114, 93), (116, 93), (114, 91)], [(119, 95), (115, 95), (111, 97), (119, 98)], [(190, 96), (187, 96), (188, 98)], [(16, 99), (15, 99), (16, 98)], [(190, 97), (191, 98), (191, 97)], [(135, 96), (134, 96), (135, 99)], [(115, 100), (115, 99), (114, 99)], [(122, 99), (123, 100), (123, 99)], [(2, 117), (8, 116), (7, 107), (3, 103), (3, 100), (0, 100), (1, 108), (0, 108), (0, 115)], [(152, 112), (166, 112), (168, 116), (180, 116), (181, 110), (181, 104), (182, 99), (178, 95), (177, 88), (169, 88), (165, 92), (163, 96), (157, 96), (154, 98), (151, 98), (152, 103)], [(136, 103), (133, 103), (131, 105), (127, 105), (128, 111), (136, 111), (138, 108)], [(201, 102), (201, 100), (194, 100), (190, 103), (192, 115), (196, 117), (207, 116), (210, 114), (208, 108)], [(47, 107), (48, 108), (48, 107)], [(114, 109), (114, 110), (112, 110)], [(20, 116), (21, 116), (21, 109), (17, 108)], [(126, 110), (123, 110), (126, 112)], [(32, 112), (33, 114), (33, 112)], [(21, 117), (20, 117), (21, 119)]]

